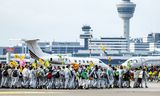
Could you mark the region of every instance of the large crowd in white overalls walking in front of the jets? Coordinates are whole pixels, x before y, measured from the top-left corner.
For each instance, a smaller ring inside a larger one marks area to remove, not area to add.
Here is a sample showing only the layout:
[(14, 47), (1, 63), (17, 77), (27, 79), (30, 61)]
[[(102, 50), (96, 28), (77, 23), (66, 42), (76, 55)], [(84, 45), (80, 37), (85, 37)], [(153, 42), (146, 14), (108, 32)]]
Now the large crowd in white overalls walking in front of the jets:
[[(0, 64), (1, 88), (46, 88), (46, 89), (89, 89), (89, 88), (148, 88), (147, 82), (160, 81), (160, 67), (129, 69), (109, 65), (109, 68), (89, 65), (37, 67), (11, 67)], [(131, 81), (134, 83), (131, 85)]]

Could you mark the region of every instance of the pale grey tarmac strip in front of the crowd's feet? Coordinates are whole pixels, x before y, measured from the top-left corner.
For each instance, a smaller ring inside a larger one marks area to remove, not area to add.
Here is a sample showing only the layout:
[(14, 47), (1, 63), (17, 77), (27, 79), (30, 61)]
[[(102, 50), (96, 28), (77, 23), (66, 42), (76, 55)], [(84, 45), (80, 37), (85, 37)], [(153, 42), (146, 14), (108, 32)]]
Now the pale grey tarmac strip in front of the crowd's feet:
[(112, 89), (0, 89), (0, 96), (160, 96), (160, 83), (149, 88)]

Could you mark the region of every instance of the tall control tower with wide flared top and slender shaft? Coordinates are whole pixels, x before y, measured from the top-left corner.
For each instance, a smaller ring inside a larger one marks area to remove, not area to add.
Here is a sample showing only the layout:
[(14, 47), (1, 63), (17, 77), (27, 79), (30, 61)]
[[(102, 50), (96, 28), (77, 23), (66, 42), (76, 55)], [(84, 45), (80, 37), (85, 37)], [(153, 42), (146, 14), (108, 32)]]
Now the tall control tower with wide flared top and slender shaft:
[(136, 4), (130, 2), (130, 0), (122, 0), (119, 4), (117, 4), (117, 11), (119, 16), (123, 19), (124, 25), (123, 25), (123, 30), (124, 30), (124, 38), (127, 40), (128, 48), (127, 50), (129, 51), (129, 23), (130, 23), (130, 18), (133, 17), (133, 13), (135, 10)]

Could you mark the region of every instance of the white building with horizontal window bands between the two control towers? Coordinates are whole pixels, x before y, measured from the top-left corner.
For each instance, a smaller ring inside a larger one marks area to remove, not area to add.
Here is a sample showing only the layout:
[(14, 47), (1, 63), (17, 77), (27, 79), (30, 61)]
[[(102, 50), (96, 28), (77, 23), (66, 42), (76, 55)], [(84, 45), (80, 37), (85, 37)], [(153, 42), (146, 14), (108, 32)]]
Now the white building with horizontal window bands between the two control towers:
[(127, 52), (127, 40), (121, 37), (102, 37), (99, 40), (90, 40), (89, 49), (92, 51), (101, 51), (106, 48), (108, 54), (120, 54)]

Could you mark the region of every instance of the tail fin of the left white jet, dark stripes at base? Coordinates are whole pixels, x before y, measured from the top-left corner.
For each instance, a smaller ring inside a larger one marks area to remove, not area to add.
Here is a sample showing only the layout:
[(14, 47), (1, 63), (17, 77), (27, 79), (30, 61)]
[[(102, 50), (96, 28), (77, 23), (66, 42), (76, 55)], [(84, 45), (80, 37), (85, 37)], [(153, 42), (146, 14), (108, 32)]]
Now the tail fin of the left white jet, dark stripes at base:
[(38, 40), (39, 39), (23, 40), (28, 46), (29, 54), (30, 54), (31, 58), (34, 58), (36, 60), (38, 60), (40, 57), (44, 56), (43, 51), (41, 50), (41, 48), (37, 44)]

